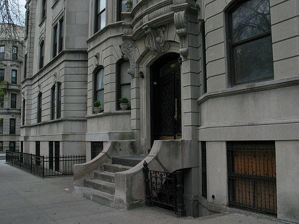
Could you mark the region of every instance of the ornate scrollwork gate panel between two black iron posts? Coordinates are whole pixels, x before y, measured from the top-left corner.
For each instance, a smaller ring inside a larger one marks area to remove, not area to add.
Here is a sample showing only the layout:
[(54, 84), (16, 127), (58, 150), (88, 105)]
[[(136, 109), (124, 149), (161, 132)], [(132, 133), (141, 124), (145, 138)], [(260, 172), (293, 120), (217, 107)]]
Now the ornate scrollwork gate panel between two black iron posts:
[(176, 178), (173, 173), (149, 171), (153, 205), (176, 212)]

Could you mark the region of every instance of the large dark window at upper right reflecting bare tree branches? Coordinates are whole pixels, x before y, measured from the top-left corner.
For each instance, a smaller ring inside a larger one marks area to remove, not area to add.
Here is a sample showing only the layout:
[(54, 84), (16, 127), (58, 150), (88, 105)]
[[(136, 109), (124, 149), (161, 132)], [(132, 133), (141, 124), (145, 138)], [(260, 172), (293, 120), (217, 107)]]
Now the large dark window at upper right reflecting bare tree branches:
[(232, 85), (273, 77), (269, 0), (242, 0), (228, 11)]

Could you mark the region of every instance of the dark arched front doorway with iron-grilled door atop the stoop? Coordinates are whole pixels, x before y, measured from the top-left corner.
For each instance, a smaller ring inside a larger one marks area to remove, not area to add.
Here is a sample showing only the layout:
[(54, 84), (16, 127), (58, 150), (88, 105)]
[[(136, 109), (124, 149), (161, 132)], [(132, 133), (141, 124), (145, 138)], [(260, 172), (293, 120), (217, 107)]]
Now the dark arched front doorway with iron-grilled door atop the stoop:
[(170, 53), (151, 66), (151, 144), (181, 138), (180, 55)]

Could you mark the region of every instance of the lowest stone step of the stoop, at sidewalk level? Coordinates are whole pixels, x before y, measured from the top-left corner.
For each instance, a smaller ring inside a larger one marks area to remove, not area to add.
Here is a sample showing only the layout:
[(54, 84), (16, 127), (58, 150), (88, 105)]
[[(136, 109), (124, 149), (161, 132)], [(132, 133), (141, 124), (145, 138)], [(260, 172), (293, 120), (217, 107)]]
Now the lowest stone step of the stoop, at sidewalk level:
[(75, 193), (99, 204), (114, 208), (114, 195), (87, 187), (75, 187)]

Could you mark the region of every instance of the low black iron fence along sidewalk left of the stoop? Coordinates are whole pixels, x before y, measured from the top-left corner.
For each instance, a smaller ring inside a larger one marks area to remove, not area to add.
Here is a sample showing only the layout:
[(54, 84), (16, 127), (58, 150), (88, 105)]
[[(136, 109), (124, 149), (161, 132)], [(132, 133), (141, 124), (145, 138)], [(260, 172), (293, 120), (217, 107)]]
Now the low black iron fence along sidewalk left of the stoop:
[(7, 164), (16, 166), (40, 177), (73, 175), (74, 164), (85, 162), (85, 155), (46, 157), (6, 151)]

